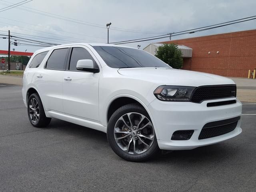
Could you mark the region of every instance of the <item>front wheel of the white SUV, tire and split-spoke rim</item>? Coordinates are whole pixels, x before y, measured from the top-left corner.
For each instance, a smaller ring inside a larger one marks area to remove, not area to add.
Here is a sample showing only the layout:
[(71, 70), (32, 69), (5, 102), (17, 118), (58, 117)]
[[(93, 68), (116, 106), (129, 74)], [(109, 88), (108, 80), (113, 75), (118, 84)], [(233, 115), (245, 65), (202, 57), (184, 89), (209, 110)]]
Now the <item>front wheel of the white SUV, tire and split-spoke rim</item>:
[(112, 114), (107, 137), (112, 150), (128, 161), (145, 161), (159, 151), (150, 117), (138, 104), (122, 106)]

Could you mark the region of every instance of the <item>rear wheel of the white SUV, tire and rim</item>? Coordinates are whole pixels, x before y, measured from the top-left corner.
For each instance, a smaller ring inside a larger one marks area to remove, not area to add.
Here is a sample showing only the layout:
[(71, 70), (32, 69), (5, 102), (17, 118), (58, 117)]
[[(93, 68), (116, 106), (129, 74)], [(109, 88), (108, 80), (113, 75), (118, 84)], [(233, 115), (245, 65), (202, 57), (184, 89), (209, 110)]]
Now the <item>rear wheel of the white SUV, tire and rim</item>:
[(37, 93), (28, 98), (28, 119), (34, 127), (46, 127), (52, 118), (45, 115), (42, 101)]

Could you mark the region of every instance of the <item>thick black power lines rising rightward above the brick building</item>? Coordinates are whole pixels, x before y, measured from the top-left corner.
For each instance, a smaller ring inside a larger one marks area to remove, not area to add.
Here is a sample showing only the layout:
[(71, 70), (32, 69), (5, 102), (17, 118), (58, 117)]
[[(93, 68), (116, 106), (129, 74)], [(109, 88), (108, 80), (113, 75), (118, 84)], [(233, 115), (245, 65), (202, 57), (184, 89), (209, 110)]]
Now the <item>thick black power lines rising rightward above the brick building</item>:
[[(200, 28), (194, 28), (194, 29), (190, 29), (190, 30), (184, 30), (184, 31), (180, 31), (180, 32), (174, 32), (174, 33), (171, 33), (172, 36), (176, 36), (176, 35), (173, 35), (173, 34), (178, 34), (178, 35), (181, 35), (180, 33), (182, 32), (186, 32), (186, 33), (182, 33), (182, 34), (190, 34), (190, 33), (194, 33), (194, 32), (200, 32), (200, 31), (204, 31), (204, 30), (210, 30), (210, 29), (213, 29), (213, 28), (218, 28), (218, 27), (223, 27), (223, 26), (227, 26), (227, 25), (231, 25), (231, 24), (236, 24), (236, 23), (240, 23), (240, 22), (246, 22), (246, 21), (249, 21), (249, 20), (254, 20), (256, 18), (254, 18), (256, 16), (250, 16), (250, 17), (246, 17), (246, 18), (241, 18), (241, 19), (237, 19), (237, 20), (232, 20), (232, 21), (228, 21), (228, 22), (223, 22), (223, 23), (219, 23), (219, 24), (214, 24), (214, 25), (209, 25), (209, 26), (204, 26), (204, 27), (200, 27)], [(244, 19), (247, 19), (247, 18), (252, 18), (252, 19), (248, 19), (248, 20), (244, 20)], [(243, 20), (243, 21), (240, 21), (240, 20)], [(234, 21), (239, 21), (239, 22), (234, 22)], [(233, 22), (233, 23), (230, 23), (230, 22)], [(226, 23), (230, 23), (230, 24), (226, 24)], [(218, 26), (220, 24), (225, 24), (225, 25), (221, 25), (221, 26)], [(210, 26), (216, 26), (216, 27), (211, 27), (211, 28), (208, 28)], [(205, 28), (205, 29), (204, 29)], [(202, 29), (202, 30), (197, 30), (197, 29)], [(194, 31), (196, 30), (196, 31)], [(167, 36), (168, 35), (168, 36)], [(169, 34), (165, 34), (165, 35), (160, 35), (160, 36), (164, 36), (162, 38), (166, 38), (166, 37), (170, 37), (170, 33)], [(152, 37), (148, 37), (148, 38), (139, 38), (139, 39), (133, 39), (133, 40), (126, 40), (126, 41), (119, 41), (119, 42), (112, 42), (112, 44), (122, 44), (122, 42), (130, 42), (130, 41), (134, 41), (134, 42), (140, 42), (140, 41), (137, 41), (137, 40), (143, 40), (143, 41), (146, 41), (144, 39), (149, 39), (149, 40), (155, 40), (155, 39), (160, 39), (160, 38), (155, 38), (155, 37), (158, 37), (158, 36), (152, 36)], [(153, 39), (151, 39), (153, 38)]]

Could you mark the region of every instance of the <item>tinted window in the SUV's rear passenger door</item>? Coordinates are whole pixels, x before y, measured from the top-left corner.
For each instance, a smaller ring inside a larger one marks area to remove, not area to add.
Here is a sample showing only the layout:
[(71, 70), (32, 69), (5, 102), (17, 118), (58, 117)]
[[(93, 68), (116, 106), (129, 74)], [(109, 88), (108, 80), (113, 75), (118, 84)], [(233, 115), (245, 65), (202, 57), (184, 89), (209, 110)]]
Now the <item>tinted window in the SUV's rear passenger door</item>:
[(46, 68), (64, 70), (67, 52), (68, 48), (54, 50), (46, 63)]

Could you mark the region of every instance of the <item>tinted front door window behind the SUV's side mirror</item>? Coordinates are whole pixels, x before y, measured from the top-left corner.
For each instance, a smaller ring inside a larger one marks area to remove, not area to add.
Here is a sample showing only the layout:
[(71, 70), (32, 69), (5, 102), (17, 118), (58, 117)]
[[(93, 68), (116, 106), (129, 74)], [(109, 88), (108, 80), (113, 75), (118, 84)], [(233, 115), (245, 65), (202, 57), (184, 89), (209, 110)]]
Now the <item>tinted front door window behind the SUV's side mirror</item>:
[(95, 60), (92, 58), (91, 54), (82, 47), (74, 47), (72, 49), (72, 54), (70, 57), (70, 64), (69, 64), (69, 70), (76, 70), (76, 64), (78, 60), (81, 59), (91, 59), (94, 63), (94, 68), (98, 68), (98, 65), (96, 64)]

